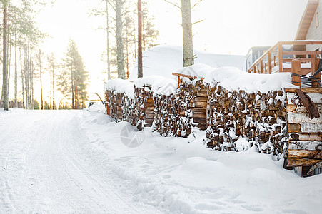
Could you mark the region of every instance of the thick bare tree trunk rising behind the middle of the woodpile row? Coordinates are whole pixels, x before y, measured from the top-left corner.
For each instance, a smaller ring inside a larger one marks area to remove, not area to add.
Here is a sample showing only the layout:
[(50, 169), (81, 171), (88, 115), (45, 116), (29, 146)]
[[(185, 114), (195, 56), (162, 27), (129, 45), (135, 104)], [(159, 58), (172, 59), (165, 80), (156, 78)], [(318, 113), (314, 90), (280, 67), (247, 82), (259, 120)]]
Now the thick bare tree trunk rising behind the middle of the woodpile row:
[(194, 64), (190, 0), (181, 0), (181, 16), (183, 29), (183, 66), (188, 67)]

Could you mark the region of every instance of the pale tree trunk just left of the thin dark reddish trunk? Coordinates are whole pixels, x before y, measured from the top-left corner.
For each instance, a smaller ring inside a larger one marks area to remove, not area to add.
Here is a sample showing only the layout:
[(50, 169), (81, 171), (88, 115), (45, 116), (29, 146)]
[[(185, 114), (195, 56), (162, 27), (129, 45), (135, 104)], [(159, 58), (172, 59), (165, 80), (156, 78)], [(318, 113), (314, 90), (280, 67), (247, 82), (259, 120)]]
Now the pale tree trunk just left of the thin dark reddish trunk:
[(122, 0), (116, 0), (116, 57), (118, 78), (125, 78), (124, 72), (124, 53), (122, 39)]

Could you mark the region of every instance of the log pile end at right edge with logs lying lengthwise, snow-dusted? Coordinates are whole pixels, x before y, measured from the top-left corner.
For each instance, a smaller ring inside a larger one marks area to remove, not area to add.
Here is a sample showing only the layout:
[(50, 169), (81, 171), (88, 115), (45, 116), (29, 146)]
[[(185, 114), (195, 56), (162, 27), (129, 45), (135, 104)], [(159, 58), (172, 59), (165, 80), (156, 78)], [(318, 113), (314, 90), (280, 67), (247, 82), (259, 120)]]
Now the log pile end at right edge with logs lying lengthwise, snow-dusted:
[(301, 176), (322, 173), (322, 88), (286, 89), (288, 152), (284, 168)]

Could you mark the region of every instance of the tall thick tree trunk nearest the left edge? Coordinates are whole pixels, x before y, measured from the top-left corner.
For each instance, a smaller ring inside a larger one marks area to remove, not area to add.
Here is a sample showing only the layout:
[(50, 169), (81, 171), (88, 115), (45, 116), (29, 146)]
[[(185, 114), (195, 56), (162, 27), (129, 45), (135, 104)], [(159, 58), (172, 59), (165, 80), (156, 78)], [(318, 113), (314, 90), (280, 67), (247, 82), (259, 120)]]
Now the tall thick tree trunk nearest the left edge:
[(7, 35), (8, 35), (8, 22), (7, 22), (7, 12), (8, 12), (8, 2), (4, 1), (4, 58), (3, 58), (3, 85), (2, 85), (2, 93), (4, 103), (4, 110), (8, 111), (9, 108), (9, 100), (8, 100), (8, 49), (7, 49)]

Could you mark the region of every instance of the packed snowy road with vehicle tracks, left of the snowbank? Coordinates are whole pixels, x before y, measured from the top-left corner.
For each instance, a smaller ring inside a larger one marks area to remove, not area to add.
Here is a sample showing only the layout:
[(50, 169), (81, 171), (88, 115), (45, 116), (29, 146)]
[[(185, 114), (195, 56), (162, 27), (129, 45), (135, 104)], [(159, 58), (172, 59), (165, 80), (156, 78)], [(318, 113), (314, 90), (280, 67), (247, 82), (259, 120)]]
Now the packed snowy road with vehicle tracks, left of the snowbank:
[[(0, 213), (146, 213), (119, 190), (109, 165), (91, 163), (81, 111), (0, 117)], [(106, 153), (95, 153), (107, 160)]]

